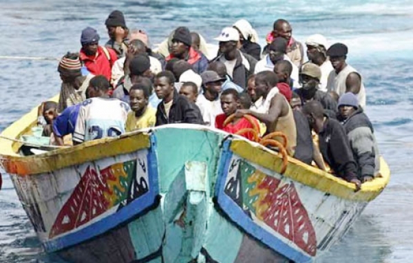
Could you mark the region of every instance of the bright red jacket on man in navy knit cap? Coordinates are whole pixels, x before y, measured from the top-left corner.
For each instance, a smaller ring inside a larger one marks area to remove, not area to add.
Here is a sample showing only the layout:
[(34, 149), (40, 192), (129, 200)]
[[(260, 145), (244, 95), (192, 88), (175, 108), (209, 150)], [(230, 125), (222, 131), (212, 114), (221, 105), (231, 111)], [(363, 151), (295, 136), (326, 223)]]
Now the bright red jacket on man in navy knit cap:
[[(110, 81), (112, 76), (112, 65), (114, 65), (118, 56), (116, 56), (116, 52), (112, 50), (112, 48), (106, 48), (106, 50), (107, 54), (105, 54), (105, 51), (103, 51), (103, 48), (99, 45), (96, 54), (94, 56), (88, 56), (82, 48), (79, 58), (90, 73), (95, 76), (103, 75)], [(109, 55), (109, 58), (107, 55)]]

